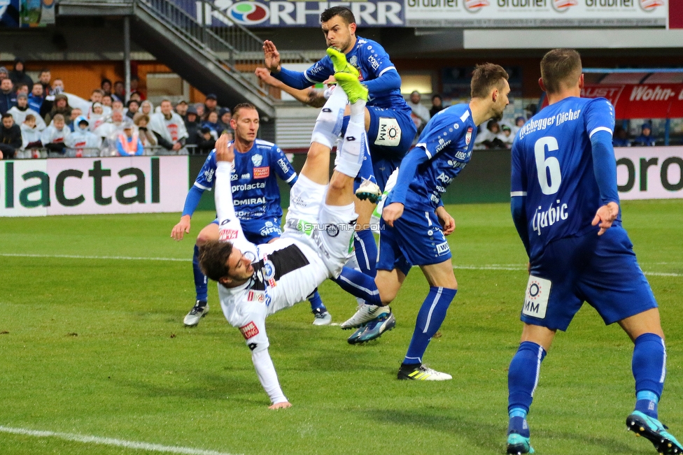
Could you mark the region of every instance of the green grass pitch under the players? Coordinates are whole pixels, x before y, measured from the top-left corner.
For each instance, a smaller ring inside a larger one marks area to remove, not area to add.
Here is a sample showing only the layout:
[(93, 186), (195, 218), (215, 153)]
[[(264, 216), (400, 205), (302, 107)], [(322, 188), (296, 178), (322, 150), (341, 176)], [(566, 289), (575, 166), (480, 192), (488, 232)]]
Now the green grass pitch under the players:
[[(661, 419), (683, 437), (683, 201), (622, 205), (661, 306), (668, 380)], [(502, 454), (507, 366), (519, 342), (526, 255), (509, 206), (451, 205), (459, 290), (425, 356), (447, 382), (395, 378), (427, 284), (414, 269), (392, 305), (396, 328), (351, 346), (315, 327), (307, 303), (269, 319), (270, 353), (288, 410), (267, 409), (239, 331), (209, 286), (194, 303), (194, 236), (177, 214), (0, 221), (0, 454), (158, 454), (148, 449), (7, 433), (54, 431), (186, 447), (200, 454)], [(14, 255), (13, 255), (14, 254)], [(99, 258), (156, 258), (99, 259)], [(170, 261), (167, 259), (178, 259)], [(334, 322), (355, 300), (332, 282), (321, 295)], [(632, 345), (584, 305), (544, 361), (529, 422), (538, 454), (654, 454), (626, 432), (634, 403)]]

